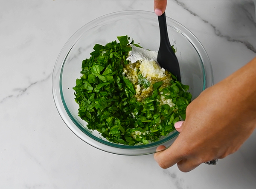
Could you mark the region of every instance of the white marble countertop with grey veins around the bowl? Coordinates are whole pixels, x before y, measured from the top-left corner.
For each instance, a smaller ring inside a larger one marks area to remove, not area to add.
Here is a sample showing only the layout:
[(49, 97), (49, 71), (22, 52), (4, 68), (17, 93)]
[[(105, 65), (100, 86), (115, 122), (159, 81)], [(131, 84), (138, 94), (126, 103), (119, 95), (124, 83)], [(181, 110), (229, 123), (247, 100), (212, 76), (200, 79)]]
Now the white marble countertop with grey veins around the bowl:
[[(51, 90), (58, 53), (87, 22), (131, 9), (153, 11), (153, 0), (0, 1), (1, 189), (256, 188), (256, 132), (217, 166), (183, 173), (97, 150), (64, 124)], [(204, 45), (215, 83), (256, 56), (253, 1), (169, 0), (166, 14)]]

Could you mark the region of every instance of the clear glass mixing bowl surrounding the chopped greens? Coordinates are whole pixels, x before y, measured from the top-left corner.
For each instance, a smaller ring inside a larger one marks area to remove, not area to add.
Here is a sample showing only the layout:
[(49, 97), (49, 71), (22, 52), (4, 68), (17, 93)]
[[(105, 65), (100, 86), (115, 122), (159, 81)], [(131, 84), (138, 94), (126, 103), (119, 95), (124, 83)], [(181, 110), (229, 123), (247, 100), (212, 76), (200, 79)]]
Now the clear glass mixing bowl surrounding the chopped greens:
[[(189, 85), (192, 99), (212, 86), (212, 67), (209, 57), (198, 39), (183, 25), (166, 17), (170, 42), (177, 49), (181, 80)], [(145, 155), (154, 153), (157, 146), (169, 147), (178, 135), (177, 131), (151, 144), (128, 146), (114, 144), (90, 131), (78, 114), (73, 87), (80, 78), (81, 63), (90, 57), (93, 46), (105, 45), (128, 35), (145, 49), (157, 51), (160, 34), (157, 16), (149, 11), (119, 11), (99, 17), (87, 23), (67, 41), (62, 48), (52, 75), (52, 93), (58, 112), (70, 130), (81, 140), (97, 149), (120, 155)]]

